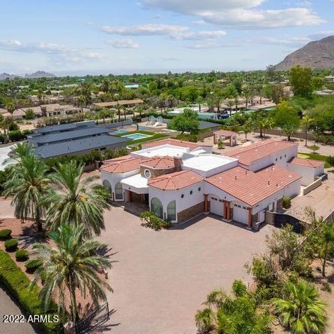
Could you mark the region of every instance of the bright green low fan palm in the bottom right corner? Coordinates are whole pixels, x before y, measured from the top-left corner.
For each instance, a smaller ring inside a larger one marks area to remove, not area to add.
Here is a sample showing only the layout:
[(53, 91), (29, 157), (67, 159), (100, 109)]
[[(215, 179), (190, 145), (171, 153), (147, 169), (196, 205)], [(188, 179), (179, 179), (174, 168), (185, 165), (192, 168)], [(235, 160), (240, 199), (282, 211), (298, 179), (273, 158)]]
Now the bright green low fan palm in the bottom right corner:
[(296, 284), (287, 283), (286, 287), (287, 298), (273, 299), (273, 305), (283, 326), (294, 334), (324, 333), (325, 304), (318, 300), (315, 287), (304, 280)]

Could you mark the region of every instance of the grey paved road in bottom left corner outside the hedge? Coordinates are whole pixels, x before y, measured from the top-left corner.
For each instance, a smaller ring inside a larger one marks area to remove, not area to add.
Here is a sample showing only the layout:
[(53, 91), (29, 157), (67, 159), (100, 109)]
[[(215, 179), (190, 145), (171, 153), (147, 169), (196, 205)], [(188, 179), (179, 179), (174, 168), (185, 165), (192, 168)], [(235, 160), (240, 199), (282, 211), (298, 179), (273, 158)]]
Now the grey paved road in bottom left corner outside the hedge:
[(0, 287), (0, 334), (33, 334), (36, 332), (29, 323), (4, 323), (3, 315), (22, 315), (19, 307)]

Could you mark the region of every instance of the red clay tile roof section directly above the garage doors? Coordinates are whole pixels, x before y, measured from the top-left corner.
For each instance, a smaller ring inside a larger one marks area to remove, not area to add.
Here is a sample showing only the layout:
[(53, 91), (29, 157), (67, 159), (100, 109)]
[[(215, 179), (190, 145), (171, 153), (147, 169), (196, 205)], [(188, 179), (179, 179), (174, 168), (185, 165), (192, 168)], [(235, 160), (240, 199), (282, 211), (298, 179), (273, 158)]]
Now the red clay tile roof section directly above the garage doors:
[(257, 173), (238, 166), (208, 177), (205, 182), (253, 207), (300, 178), (301, 175), (278, 165)]

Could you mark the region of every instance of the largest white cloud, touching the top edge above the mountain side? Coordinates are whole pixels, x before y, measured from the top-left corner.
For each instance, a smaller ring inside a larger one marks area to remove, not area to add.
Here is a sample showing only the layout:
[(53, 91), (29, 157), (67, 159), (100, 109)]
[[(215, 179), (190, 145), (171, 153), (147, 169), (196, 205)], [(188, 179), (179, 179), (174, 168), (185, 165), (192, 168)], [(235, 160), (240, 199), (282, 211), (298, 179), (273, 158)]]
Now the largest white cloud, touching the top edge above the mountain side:
[(146, 6), (200, 17), (234, 29), (273, 29), (324, 22), (310, 8), (270, 10), (257, 8), (265, 0), (142, 0)]

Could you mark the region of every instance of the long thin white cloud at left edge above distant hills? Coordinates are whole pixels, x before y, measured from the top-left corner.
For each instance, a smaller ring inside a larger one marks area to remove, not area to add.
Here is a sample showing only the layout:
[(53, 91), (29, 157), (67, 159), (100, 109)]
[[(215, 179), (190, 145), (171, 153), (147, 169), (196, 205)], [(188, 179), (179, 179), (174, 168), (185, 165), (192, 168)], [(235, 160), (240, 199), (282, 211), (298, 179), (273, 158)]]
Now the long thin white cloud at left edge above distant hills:
[(35, 54), (47, 54), (51, 57), (58, 57), (66, 61), (83, 61), (85, 59), (100, 59), (102, 55), (97, 52), (84, 49), (72, 49), (66, 45), (53, 43), (24, 43), (19, 40), (2, 40), (0, 49)]

